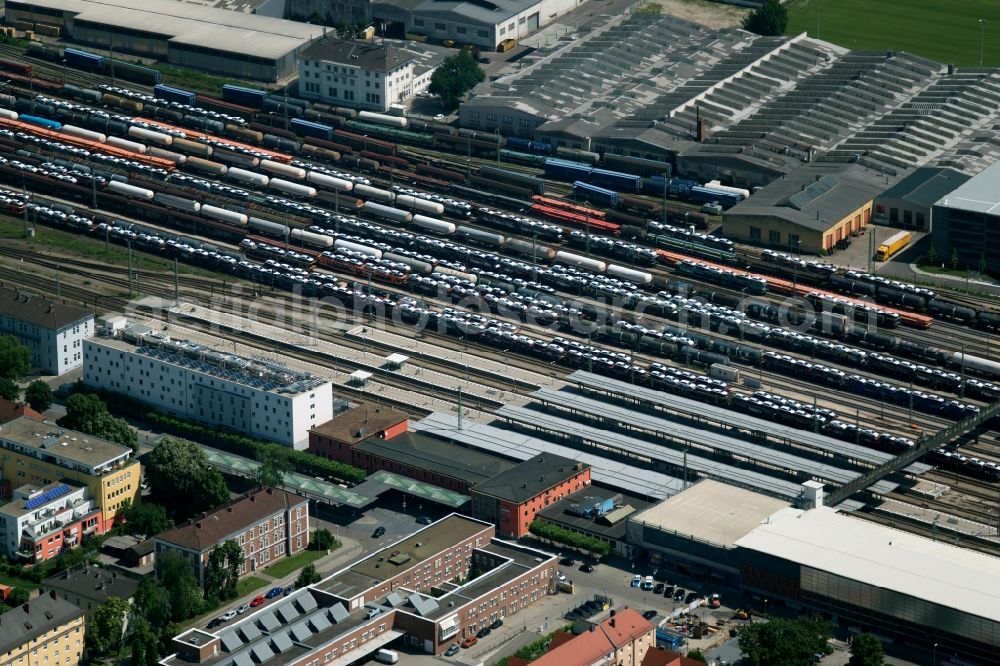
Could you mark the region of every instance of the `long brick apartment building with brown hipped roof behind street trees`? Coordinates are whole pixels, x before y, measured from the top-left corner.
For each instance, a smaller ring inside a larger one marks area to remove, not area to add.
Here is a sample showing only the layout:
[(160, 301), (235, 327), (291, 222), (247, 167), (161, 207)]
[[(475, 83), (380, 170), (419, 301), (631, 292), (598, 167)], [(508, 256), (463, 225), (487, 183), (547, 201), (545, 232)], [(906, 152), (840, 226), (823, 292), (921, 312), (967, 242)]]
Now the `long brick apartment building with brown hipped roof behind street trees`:
[(198, 583), (205, 584), (208, 556), (226, 541), (243, 549), (239, 575), (298, 554), (309, 545), (309, 500), (268, 488), (153, 537), (157, 558), (172, 551), (191, 562)]

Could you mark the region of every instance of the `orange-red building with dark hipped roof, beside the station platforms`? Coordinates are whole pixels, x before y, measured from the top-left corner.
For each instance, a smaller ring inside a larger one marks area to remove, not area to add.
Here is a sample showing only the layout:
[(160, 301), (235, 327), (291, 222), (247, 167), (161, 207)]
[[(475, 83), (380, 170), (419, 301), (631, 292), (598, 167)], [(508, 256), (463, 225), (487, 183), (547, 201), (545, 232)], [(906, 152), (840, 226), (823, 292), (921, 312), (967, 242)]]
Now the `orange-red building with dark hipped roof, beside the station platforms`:
[(500, 536), (520, 539), (539, 511), (588, 485), (590, 465), (540, 453), (473, 486), (472, 514)]

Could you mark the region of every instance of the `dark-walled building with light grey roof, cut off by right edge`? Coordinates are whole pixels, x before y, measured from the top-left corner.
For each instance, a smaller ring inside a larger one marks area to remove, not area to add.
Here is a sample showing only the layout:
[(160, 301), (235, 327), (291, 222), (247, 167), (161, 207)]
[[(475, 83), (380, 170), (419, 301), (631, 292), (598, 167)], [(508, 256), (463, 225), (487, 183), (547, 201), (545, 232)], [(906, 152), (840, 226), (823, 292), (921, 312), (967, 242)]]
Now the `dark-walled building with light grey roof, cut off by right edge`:
[(934, 204), (931, 242), (941, 261), (1000, 275), (1000, 162), (994, 162)]

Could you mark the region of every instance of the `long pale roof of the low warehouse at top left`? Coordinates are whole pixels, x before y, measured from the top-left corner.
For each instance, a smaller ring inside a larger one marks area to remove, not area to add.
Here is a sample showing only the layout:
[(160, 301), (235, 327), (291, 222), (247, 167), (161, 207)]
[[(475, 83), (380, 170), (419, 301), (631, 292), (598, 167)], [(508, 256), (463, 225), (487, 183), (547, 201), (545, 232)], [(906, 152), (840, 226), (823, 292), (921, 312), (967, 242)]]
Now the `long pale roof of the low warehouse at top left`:
[[(174, 0), (28, 0), (19, 3), (65, 11), (74, 22), (160, 34), (177, 44), (226, 51), (243, 57), (278, 59), (318, 37), (322, 28), (297, 21), (178, 5)], [(183, 15), (179, 15), (179, 14)]]

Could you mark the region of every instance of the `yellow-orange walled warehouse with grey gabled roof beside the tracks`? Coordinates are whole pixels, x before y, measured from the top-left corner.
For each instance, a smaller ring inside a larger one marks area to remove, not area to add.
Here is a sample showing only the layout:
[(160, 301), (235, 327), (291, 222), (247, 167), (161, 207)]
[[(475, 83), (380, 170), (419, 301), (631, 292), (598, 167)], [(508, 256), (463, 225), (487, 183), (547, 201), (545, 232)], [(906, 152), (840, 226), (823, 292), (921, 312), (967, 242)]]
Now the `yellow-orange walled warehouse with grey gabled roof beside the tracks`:
[(722, 233), (785, 252), (829, 252), (868, 226), (886, 180), (858, 165), (810, 165), (723, 213)]

